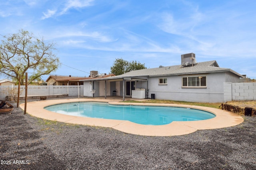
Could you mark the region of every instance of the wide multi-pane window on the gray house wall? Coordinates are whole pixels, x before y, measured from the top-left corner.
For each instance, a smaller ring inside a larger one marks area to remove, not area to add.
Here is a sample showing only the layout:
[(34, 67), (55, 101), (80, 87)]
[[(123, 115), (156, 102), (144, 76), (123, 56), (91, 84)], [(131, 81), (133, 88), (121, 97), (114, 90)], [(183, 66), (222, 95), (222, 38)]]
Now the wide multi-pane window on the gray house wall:
[(182, 87), (206, 87), (206, 76), (182, 77)]

